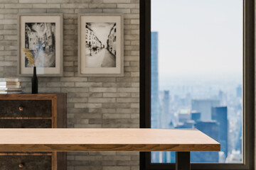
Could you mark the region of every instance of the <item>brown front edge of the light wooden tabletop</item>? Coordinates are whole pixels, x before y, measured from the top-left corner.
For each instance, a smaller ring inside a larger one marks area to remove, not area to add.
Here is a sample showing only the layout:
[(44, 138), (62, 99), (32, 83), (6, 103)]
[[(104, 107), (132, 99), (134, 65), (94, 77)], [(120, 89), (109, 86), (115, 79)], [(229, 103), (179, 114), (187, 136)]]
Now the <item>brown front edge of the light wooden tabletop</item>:
[(104, 145), (0, 145), (0, 152), (89, 152), (89, 151), (220, 151), (220, 144), (207, 145), (125, 145), (125, 144), (104, 144)]

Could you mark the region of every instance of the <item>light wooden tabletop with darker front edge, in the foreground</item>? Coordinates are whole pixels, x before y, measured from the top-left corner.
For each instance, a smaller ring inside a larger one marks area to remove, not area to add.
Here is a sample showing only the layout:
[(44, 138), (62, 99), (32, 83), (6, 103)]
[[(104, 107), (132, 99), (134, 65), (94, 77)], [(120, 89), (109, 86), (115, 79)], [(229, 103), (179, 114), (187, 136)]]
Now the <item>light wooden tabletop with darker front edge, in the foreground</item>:
[(0, 152), (220, 151), (220, 143), (187, 129), (0, 129)]

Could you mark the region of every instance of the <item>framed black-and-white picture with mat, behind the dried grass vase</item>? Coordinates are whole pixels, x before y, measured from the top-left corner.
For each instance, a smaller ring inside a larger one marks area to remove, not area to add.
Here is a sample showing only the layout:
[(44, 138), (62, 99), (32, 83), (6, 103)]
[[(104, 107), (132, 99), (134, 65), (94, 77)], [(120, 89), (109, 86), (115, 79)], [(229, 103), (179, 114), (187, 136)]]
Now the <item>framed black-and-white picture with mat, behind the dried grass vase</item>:
[[(33, 65), (27, 54), (33, 57)], [(63, 75), (63, 15), (61, 13), (18, 14), (18, 75)]]

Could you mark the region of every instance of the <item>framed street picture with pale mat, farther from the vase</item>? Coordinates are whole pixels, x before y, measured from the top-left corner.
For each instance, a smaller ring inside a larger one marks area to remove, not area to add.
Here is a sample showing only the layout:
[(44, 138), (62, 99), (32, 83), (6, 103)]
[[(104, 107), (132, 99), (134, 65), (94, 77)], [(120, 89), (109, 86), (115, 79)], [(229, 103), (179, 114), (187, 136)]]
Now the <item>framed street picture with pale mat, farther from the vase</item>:
[(122, 14), (92, 13), (78, 16), (78, 75), (124, 75)]

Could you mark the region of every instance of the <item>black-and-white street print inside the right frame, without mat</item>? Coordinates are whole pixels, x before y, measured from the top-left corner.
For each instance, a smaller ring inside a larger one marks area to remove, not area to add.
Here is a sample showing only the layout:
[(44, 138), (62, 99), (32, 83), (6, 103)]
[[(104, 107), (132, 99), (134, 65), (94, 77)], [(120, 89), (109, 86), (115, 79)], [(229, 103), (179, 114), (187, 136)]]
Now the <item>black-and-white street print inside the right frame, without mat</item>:
[(85, 23), (85, 66), (116, 67), (116, 23)]

